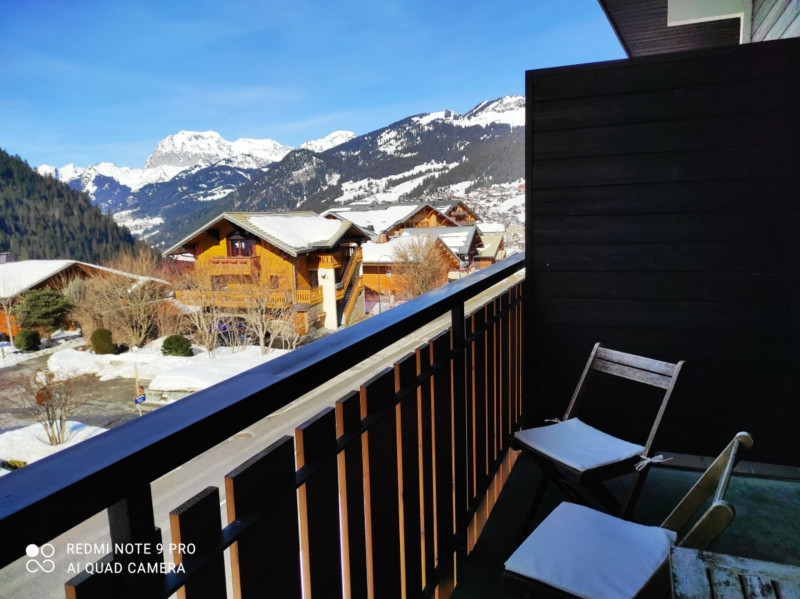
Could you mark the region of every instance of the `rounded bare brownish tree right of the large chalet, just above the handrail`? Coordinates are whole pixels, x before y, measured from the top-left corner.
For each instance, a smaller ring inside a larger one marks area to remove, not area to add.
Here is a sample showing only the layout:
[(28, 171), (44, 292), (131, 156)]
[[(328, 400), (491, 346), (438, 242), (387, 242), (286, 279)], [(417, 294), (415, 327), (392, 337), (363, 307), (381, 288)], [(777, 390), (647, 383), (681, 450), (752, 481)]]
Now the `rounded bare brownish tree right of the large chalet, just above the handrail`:
[(408, 299), (428, 293), (447, 282), (446, 248), (435, 237), (408, 236), (394, 250), (393, 276)]

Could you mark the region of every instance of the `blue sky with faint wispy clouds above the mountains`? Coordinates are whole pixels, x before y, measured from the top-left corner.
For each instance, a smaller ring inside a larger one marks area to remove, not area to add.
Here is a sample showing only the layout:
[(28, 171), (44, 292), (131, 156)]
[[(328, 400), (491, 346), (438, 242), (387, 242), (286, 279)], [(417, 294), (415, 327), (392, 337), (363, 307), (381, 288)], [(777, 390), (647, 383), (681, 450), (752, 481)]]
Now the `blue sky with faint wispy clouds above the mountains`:
[(142, 167), (178, 131), (297, 146), (623, 58), (596, 0), (4, 0), (0, 147)]

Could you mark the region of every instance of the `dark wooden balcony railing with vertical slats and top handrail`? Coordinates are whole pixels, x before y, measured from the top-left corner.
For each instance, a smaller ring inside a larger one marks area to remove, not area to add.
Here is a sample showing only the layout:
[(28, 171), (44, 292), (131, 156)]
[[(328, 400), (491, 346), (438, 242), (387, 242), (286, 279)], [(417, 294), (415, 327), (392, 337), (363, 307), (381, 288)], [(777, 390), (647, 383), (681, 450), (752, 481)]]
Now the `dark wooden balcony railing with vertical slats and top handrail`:
[[(0, 480), (0, 566), (107, 510), (114, 543), (191, 554), (108, 555), (183, 572), (88, 574), (68, 597), (447, 597), (502, 486), (522, 396), (524, 256), (437, 289)], [(436, 335), (155, 527), (150, 483), (450, 313)], [(500, 473), (498, 478), (496, 473)], [(487, 491), (490, 491), (487, 493)]]

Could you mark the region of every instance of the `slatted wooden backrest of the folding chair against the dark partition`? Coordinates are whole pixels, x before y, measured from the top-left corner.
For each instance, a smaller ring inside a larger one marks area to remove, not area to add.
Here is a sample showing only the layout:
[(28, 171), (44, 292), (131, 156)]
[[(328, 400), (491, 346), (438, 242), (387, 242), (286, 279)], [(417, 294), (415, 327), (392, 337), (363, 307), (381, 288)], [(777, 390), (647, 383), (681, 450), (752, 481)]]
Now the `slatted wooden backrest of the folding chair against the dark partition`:
[(667, 409), (669, 398), (672, 396), (672, 390), (678, 380), (678, 374), (683, 364), (683, 360), (672, 364), (644, 356), (615, 351), (603, 347), (600, 343), (595, 343), (578, 385), (575, 387), (575, 392), (572, 394), (569, 406), (567, 406), (564, 420), (575, 415), (594, 371), (605, 372), (613, 376), (664, 389), (661, 405), (658, 408), (650, 434), (647, 436), (647, 442), (644, 445), (644, 455), (649, 456), (650, 448), (658, 432), (658, 427), (661, 424), (664, 411)]

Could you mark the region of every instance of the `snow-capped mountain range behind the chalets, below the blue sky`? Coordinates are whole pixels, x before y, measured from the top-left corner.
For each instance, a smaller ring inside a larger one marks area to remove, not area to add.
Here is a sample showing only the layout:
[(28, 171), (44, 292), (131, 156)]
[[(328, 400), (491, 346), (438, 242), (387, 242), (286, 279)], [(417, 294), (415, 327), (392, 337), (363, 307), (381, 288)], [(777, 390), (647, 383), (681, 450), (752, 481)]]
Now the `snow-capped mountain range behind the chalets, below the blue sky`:
[[(292, 149), (270, 139), (180, 131), (145, 168), (100, 163), (37, 170), (89, 193), (118, 223), (169, 244), (224, 210), (325, 210), (350, 202), (449, 197), (524, 177), (525, 98), (481, 102), (463, 115), (419, 114)], [(187, 230), (188, 229), (188, 230)]]

